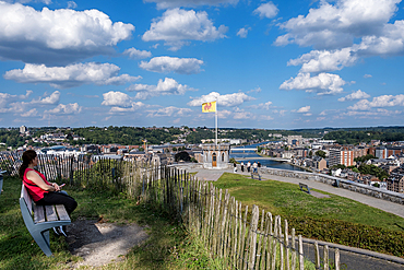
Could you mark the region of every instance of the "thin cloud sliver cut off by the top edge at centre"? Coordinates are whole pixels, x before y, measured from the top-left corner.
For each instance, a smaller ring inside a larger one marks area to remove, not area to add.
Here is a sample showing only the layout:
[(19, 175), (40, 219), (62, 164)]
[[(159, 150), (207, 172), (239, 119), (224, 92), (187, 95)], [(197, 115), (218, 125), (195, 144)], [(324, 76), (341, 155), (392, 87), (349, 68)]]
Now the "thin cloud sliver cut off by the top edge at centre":
[(237, 4), (238, 0), (143, 0), (157, 3), (157, 9), (173, 9), (180, 7)]

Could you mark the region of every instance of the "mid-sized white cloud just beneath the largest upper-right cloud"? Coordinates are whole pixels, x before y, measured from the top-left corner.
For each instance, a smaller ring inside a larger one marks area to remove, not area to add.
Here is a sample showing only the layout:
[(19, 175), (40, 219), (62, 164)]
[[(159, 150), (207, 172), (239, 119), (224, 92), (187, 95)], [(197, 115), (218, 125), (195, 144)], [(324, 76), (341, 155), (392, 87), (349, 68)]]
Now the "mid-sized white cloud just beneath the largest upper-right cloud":
[(292, 59), (287, 66), (302, 64), (300, 72), (324, 72), (341, 70), (344, 67), (356, 62), (357, 56), (353, 54), (352, 48), (338, 50), (312, 50), (297, 59)]

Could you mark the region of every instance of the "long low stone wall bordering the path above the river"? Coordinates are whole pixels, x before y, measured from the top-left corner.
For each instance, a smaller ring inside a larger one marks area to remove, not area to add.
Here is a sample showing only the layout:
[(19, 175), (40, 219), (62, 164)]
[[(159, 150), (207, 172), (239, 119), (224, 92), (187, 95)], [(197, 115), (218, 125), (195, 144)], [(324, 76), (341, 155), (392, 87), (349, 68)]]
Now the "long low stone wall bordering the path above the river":
[(372, 196), (379, 199), (404, 204), (403, 193), (397, 193), (397, 192), (393, 192), (389, 190), (382, 190), (373, 186), (368, 186), (368, 185), (350, 181), (350, 180), (340, 178), (340, 177), (334, 177), (334, 176), (329, 176), (329, 175), (323, 175), (323, 174), (316, 174), (316, 173), (307, 173), (307, 172), (269, 168), (269, 167), (260, 168), (260, 171), (261, 173), (266, 173), (270, 175), (321, 181), (321, 183), (332, 185), (335, 187), (349, 189), (350, 191), (355, 191), (355, 192), (359, 192), (363, 195), (368, 195), (368, 196)]

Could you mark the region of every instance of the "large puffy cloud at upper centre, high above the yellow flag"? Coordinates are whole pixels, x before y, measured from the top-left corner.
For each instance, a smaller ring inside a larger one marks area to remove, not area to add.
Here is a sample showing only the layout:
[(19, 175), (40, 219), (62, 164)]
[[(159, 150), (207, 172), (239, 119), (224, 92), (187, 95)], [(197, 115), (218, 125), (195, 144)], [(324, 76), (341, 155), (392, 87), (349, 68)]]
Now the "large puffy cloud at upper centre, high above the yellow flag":
[(204, 11), (173, 9), (154, 20), (150, 30), (143, 34), (144, 42), (165, 40), (171, 50), (178, 50), (188, 40), (209, 42), (224, 38), (227, 27), (216, 28)]

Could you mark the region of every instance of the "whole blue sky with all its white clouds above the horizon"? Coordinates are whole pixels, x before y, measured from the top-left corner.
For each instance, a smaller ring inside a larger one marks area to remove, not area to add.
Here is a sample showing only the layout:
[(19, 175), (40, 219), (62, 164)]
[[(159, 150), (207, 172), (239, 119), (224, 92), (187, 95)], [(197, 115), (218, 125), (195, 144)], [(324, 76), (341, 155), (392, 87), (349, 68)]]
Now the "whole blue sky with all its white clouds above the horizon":
[(403, 126), (400, 0), (0, 0), (0, 127)]

